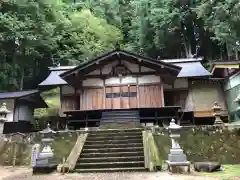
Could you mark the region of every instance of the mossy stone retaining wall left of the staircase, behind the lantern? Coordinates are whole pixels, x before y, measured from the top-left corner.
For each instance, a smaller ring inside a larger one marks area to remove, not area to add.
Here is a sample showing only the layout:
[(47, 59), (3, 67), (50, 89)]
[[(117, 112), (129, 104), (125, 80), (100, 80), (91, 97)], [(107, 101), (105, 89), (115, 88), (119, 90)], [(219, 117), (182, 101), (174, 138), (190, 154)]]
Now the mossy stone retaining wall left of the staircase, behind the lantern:
[[(79, 134), (78, 132), (58, 132), (55, 134), (52, 149), (58, 163), (61, 163), (63, 158), (66, 159), (68, 157)], [(30, 165), (33, 144), (41, 144), (41, 135), (39, 133), (25, 135), (26, 137), (17, 147), (16, 165)], [(9, 140), (9, 136), (0, 138), (0, 165), (12, 165), (15, 143), (4, 141), (4, 139)]]

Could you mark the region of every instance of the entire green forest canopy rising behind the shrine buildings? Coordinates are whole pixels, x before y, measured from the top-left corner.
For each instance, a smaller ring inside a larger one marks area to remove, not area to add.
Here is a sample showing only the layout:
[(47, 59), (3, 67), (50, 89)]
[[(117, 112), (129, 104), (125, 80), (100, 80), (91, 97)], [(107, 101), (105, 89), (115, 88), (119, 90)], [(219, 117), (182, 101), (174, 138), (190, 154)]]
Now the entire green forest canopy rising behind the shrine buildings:
[(121, 48), (152, 58), (239, 59), (239, 0), (2, 0), (0, 90), (35, 88), (48, 66)]

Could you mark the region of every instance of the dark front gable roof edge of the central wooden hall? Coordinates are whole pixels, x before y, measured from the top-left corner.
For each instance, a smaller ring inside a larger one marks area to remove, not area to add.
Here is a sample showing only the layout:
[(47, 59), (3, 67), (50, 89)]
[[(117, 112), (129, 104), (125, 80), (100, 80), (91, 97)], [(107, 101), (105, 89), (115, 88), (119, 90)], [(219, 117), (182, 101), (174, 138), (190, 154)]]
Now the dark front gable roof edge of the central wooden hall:
[(137, 54), (134, 54), (134, 53), (131, 53), (131, 52), (116, 49), (116, 50), (110, 51), (108, 53), (105, 53), (105, 54), (103, 54), (103, 55), (101, 55), (97, 58), (94, 58), (90, 61), (83, 62), (79, 66), (76, 66), (75, 68), (62, 73), (60, 75), (60, 77), (62, 77), (64, 79), (65, 77), (71, 75), (72, 73), (74, 73), (76, 71), (83, 71), (84, 69), (87, 69), (91, 66), (100, 64), (103, 61), (110, 60), (113, 57), (114, 58), (119, 57), (119, 58), (124, 59), (124, 60), (135, 59), (135, 60), (138, 60), (138, 61), (141, 61), (141, 62), (145, 63), (146, 66), (147, 65), (151, 66), (152, 68), (163, 68), (163, 67), (165, 67), (165, 68), (169, 69), (170, 71), (174, 71), (176, 74), (178, 74), (179, 71), (181, 70), (181, 67), (179, 67), (179, 66), (175, 66), (175, 65), (172, 65), (172, 64), (169, 64), (169, 63), (165, 63), (163, 61), (156, 61), (156, 60), (154, 60), (152, 58), (149, 58), (149, 57), (144, 57), (144, 56), (137, 55)]

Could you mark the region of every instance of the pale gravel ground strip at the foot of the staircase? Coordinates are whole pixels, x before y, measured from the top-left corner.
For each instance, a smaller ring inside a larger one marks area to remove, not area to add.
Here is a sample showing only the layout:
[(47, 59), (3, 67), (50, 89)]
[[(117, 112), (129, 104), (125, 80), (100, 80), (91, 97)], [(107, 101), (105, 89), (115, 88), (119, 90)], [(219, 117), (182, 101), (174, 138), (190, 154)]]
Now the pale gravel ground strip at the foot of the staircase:
[(84, 174), (51, 174), (32, 175), (27, 168), (1, 168), (0, 180), (217, 180), (217, 178), (193, 175), (171, 175), (167, 172), (137, 172), (137, 173), (84, 173)]

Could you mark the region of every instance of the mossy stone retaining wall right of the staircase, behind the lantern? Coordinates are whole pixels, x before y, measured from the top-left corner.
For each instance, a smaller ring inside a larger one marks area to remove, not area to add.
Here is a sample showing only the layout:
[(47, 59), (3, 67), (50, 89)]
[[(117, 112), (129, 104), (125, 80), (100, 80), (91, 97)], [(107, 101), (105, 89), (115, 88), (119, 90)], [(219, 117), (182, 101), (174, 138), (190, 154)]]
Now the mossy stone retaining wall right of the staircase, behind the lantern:
[[(154, 135), (154, 139), (161, 159), (167, 160), (171, 147), (168, 132), (163, 131), (158, 134)], [(240, 129), (229, 130), (214, 126), (186, 127), (183, 129), (180, 145), (191, 162), (240, 163)]]

